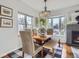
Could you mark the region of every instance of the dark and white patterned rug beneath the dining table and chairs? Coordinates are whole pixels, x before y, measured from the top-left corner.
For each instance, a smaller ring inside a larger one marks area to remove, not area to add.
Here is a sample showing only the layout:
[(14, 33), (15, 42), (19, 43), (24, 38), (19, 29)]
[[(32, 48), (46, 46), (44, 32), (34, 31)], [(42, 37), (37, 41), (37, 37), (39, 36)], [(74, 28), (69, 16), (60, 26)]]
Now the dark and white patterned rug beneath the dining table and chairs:
[[(61, 58), (62, 55), (62, 47), (56, 47), (54, 55), (52, 55), (46, 49), (46, 53), (44, 52), (44, 58)], [(14, 52), (2, 57), (2, 58), (22, 58), (22, 48), (15, 50)], [(30, 55), (25, 54), (25, 58), (32, 58)], [(36, 58), (40, 58), (40, 54), (36, 56)]]

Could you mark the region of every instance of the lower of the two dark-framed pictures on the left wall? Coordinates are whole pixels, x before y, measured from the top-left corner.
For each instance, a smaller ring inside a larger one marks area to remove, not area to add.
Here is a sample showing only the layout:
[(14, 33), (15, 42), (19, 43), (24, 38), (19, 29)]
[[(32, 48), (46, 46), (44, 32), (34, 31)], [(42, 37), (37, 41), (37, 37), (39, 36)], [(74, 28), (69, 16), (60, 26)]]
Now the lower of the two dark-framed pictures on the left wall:
[(13, 27), (13, 20), (8, 18), (0, 18), (0, 27), (3, 28), (12, 28)]

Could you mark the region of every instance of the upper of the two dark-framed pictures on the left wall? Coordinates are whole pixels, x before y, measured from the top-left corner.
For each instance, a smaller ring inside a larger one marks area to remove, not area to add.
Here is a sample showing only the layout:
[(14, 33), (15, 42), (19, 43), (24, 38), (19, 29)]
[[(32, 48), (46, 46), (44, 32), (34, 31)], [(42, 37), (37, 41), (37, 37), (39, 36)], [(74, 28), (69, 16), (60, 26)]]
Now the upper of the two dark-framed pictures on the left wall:
[(13, 9), (3, 6), (3, 5), (0, 5), (0, 15), (12, 17), (13, 16)]

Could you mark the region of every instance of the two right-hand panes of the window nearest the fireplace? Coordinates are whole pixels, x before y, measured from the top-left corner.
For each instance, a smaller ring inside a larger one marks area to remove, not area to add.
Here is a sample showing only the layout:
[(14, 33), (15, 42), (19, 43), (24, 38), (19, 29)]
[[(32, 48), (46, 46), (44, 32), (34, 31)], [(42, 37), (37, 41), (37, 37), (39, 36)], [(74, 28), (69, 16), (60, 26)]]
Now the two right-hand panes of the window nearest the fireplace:
[(65, 30), (65, 17), (53, 17), (52, 18), (52, 27), (54, 34), (56, 35), (64, 35), (64, 30)]

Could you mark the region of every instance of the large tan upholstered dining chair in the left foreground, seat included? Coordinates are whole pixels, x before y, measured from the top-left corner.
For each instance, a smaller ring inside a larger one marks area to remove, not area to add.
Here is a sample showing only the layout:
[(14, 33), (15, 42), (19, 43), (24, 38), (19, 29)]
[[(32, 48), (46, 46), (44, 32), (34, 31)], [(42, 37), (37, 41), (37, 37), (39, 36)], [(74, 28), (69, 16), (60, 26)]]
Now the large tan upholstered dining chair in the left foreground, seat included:
[(34, 44), (30, 29), (26, 29), (25, 31), (20, 31), (20, 35), (22, 39), (23, 57), (24, 57), (24, 53), (27, 53), (32, 57), (35, 57), (35, 55), (42, 50), (42, 46)]

